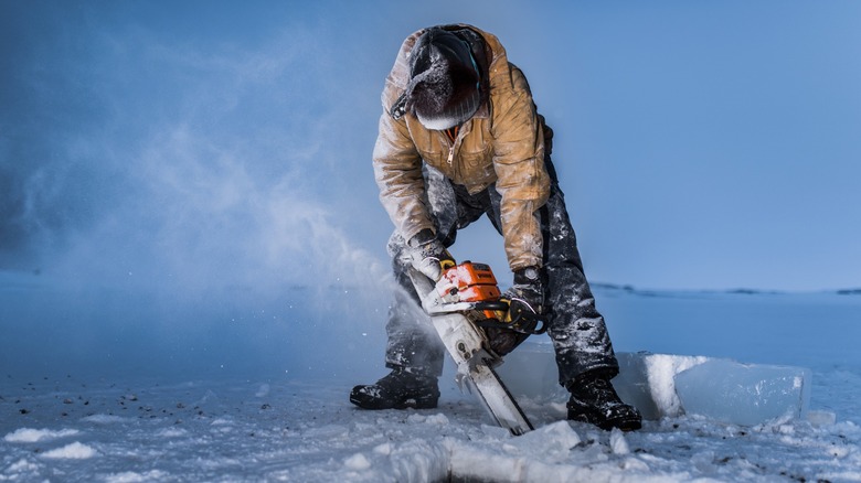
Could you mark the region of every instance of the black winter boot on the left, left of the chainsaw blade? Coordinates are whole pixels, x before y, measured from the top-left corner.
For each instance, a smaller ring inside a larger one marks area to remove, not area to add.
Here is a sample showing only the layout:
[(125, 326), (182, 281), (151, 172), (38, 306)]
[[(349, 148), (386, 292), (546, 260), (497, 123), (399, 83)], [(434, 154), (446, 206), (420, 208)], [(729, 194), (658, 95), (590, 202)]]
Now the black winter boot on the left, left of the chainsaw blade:
[(431, 409), (439, 399), (435, 376), (395, 367), (387, 376), (369, 386), (355, 386), (350, 402), (363, 409)]

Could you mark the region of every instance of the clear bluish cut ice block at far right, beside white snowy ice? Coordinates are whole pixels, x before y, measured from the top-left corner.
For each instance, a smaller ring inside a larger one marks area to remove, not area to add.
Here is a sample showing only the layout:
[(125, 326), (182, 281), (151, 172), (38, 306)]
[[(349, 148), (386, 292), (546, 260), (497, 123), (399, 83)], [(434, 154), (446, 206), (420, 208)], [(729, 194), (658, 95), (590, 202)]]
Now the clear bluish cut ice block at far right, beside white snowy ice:
[(810, 401), (810, 371), (711, 359), (676, 375), (684, 411), (741, 426), (797, 419)]

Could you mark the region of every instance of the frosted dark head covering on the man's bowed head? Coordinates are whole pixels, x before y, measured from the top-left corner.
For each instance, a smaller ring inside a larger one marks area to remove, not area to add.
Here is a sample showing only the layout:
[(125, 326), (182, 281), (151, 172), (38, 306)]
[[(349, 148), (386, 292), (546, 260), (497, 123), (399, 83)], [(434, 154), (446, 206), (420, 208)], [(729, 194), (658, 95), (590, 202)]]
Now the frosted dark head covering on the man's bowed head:
[(432, 28), (410, 54), (407, 109), (424, 127), (444, 130), (471, 118), (481, 104), (479, 73), (469, 44)]

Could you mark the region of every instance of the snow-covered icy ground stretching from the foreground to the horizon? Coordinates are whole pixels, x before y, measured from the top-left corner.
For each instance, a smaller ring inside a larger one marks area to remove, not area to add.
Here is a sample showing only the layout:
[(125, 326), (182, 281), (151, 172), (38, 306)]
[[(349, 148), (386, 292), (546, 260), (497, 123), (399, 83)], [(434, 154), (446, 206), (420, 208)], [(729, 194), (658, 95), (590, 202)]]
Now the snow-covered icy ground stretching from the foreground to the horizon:
[(861, 481), (857, 294), (597, 287), (617, 350), (808, 367), (810, 417), (619, 433), (535, 398), (522, 401), (535, 431), (514, 438), (450, 365), (437, 409), (350, 405), (353, 384), (383, 375), (384, 302), (352, 299), (365, 314), (351, 321), (295, 300), (128, 310), (32, 279), (0, 279), (0, 481)]

